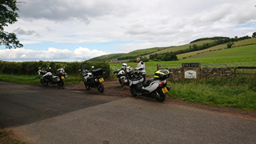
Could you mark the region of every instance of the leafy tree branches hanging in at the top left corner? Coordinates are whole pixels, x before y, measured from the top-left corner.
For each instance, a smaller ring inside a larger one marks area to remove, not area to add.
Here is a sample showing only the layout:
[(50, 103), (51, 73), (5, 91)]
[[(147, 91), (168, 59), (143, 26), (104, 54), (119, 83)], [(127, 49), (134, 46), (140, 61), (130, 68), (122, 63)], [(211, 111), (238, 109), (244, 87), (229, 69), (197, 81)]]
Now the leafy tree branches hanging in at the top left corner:
[(16, 34), (4, 31), (4, 26), (17, 22), (18, 7), (16, 0), (0, 0), (0, 46), (5, 45), (6, 49), (20, 48), (23, 45), (18, 41)]

